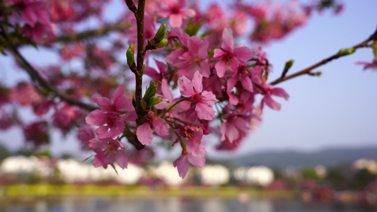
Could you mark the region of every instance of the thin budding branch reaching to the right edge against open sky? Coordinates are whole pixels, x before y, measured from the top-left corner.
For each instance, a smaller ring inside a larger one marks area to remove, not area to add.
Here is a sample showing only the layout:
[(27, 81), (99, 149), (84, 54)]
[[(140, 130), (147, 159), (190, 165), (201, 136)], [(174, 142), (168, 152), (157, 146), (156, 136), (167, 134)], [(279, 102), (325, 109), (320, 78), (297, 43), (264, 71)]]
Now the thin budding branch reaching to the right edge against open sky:
[[(371, 40), (377, 40), (377, 30), (367, 40), (359, 43), (358, 45), (354, 45), (354, 47), (351, 47), (350, 49), (356, 50), (356, 49), (359, 49), (359, 48), (362, 48), (362, 47), (367, 47), (368, 42), (370, 42)], [(276, 85), (277, 83), (282, 83), (283, 81), (289, 80), (291, 78), (295, 78), (296, 76), (301, 76), (301, 75), (304, 75), (304, 74), (311, 73), (311, 71), (313, 69), (317, 68), (318, 66), (322, 66), (323, 64), (327, 64), (329, 61), (332, 61), (333, 59), (337, 59), (339, 57), (343, 57), (343, 56), (346, 56), (346, 55), (348, 55), (348, 54), (340, 54), (340, 52), (337, 52), (337, 54), (334, 54), (331, 57), (327, 57), (326, 59), (323, 59), (322, 61), (319, 61), (318, 63), (313, 64), (312, 66), (309, 66), (308, 68), (303, 69), (302, 71), (298, 71), (298, 72), (293, 73), (289, 76), (284, 76), (282, 78), (278, 78), (277, 80), (275, 80), (275, 81), (273, 81), (272, 83), (269, 83), (269, 84)]]

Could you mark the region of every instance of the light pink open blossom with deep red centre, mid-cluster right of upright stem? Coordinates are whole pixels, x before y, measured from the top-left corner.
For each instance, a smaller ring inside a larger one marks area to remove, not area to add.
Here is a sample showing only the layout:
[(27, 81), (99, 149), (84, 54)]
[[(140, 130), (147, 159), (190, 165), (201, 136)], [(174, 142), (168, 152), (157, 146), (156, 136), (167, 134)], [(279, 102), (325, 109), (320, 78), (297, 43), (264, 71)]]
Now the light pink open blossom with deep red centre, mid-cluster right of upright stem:
[(202, 79), (202, 74), (196, 71), (192, 81), (183, 76), (178, 80), (178, 86), (182, 96), (190, 98), (193, 104), (195, 104), (197, 117), (199, 117), (199, 119), (212, 120), (215, 117), (215, 111), (211, 106), (214, 105), (215, 102), (218, 102), (218, 100), (216, 100), (216, 96), (211, 91), (202, 91)]

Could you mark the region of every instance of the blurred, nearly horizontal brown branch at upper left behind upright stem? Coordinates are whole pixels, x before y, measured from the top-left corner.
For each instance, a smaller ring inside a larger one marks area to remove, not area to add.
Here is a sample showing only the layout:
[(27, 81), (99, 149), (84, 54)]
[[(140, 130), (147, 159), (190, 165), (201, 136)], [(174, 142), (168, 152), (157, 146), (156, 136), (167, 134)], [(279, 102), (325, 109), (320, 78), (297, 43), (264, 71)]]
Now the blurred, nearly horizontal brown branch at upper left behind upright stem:
[(83, 33), (61, 35), (54, 39), (54, 42), (72, 42), (86, 39), (88, 37), (96, 37), (101, 35), (106, 35), (112, 31), (122, 31), (131, 28), (132, 25), (129, 23), (116, 23), (115, 25), (106, 26), (104, 28), (98, 28), (95, 30), (88, 30)]

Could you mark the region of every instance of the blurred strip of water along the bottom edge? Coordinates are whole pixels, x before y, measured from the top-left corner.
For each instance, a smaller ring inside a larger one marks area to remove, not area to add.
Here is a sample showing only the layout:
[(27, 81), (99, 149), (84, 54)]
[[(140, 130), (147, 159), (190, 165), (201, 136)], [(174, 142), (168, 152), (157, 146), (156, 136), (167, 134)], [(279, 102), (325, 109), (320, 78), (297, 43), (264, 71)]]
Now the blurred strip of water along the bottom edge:
[[(1, 199), (0, 199), (1, 200)], [(185, 199), (181, 197), (156, 199), (126, 199), (121, 196), (74, 197), (54, 199), (23, 199), (0, 201), (0, 212), (361, 212), (352, 205), (334, 203), (303, 203), (295, 200), (251, 199), (240, 202), (237, 199)]]

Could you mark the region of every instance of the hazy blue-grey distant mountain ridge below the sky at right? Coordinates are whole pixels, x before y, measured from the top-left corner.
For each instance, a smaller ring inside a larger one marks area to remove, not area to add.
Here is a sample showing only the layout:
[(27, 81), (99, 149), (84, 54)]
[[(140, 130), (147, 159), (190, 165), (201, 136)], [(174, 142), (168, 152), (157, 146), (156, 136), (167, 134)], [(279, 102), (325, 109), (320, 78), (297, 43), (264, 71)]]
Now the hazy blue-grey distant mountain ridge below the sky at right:
[(229, 165), (267, 165), (268, 167), (284, 168), (289, 166), (334, 166), (342, 163), (351, 163), (359, 158), (377, 160), (377, 146), (367, 148), (329, 148), (313, 153), (302, 153), (299, 151), (267, 151), (219, 162), (224, 162)]

